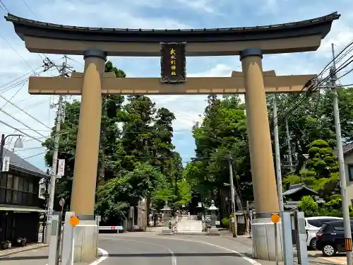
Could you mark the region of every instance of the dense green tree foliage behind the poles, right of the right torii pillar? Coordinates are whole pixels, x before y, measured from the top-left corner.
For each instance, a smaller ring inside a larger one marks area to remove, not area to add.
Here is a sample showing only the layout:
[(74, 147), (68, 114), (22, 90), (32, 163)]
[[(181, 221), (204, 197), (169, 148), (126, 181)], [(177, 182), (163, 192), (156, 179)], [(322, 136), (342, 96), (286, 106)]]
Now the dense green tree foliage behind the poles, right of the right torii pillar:
[[(352, 141), (353, 133), (353, 90), (340, 88), (338, 100), (340, 106), (340, 122), (345, 143)], [(272, 98), (268, 100), (268, 110), (272, 113)], [(300, 103), (300, 104), (297, 104)], [(282, 94), (277, 95), (278, 129), (280, 134), (280, 154), (282, 173), (289, 173), (288, 146), (285, 119), (289, 125), (289, 139), (292, 147), (292, 160), (296, 165), (297, 174), (306, 163), (304, 155), (309, 153), (310, 143), (317, 139), (328, 142), (335, 148), (335, 122), (333, 114), (332, 92), (321, 90), (320, 93)], [(273, 130), (272, 120), (271, 130)], [(330, 142), (331, 141), (331, 142)]]

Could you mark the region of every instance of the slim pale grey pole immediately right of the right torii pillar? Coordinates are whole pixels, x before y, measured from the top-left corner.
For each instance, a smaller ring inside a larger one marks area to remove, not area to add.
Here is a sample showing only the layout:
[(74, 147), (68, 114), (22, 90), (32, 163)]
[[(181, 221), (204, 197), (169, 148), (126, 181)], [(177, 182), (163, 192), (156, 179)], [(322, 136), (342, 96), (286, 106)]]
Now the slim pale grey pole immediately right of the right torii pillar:
[(285, 211), (283, 206), (283, 189), (282, 189), (282, 172), (281, 172), (281, 158), (280, 158), (280, 138), (278, 136), (278, 119), (277, 119), (277, 97), (273, 96), (273, 131), (275, 133), (275, 160), (276, 160), (276, 178), (277, 178), (277, 193), (278, 204), (280, 211)]

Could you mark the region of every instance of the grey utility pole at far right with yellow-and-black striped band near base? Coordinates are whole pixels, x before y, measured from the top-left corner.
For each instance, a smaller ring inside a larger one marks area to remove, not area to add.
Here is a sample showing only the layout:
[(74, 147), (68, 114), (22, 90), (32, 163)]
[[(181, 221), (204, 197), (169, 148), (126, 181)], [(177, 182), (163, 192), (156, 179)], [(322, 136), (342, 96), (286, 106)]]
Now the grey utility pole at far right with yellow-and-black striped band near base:
[(353, 254), (352, 254), (352, 234), (351, 225), (349, 218), (349, 202), (347, 196), (347, 182), (345, 173), (345, 158), (343, 156), (343, 144), (342, 144), (342, 134), (341, 134), (341, 124), (340, 124), (340, 110), (338, 107), (338, 95), (336, 86), (336, 62), (335, 62), (335, 47), (331, 44), (332, 55), (333, 55), (333, 67), (330, 69), (330, 81), (333, 90), (333, 112), (335, 112), (335, 127), (336, 127), (336, 141), (337, 141), (337, 151), (338, 151), (338, 165), (340, 167), (340, 186), (342, 194), (342, 212), (343, 212), (343, 224), (345, 227), (345, 246), (348, 249), (347, 255), (347, 265), (353, 265)]

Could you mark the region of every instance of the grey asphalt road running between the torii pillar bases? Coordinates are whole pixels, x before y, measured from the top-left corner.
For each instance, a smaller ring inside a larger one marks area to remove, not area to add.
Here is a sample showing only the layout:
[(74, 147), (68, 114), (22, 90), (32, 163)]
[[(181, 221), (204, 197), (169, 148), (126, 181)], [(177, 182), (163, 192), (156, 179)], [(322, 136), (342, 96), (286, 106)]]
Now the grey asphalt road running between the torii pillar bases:
[(109, 257), (101, 265), (250, 265), (239, 254), (214, 245), (175, 237), (100, 236)]

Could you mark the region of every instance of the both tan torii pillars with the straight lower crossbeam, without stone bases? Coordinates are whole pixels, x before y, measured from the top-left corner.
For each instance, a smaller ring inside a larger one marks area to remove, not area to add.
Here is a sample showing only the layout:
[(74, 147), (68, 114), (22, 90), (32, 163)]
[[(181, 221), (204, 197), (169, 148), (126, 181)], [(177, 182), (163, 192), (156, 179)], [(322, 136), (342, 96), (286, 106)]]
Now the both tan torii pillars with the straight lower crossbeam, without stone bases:
[(263, 72), (260, 49), (241, 52), (243, 71), (234, 71), (232, 77), (194, 77), (178, 84), (161, 83), (160, 78), (116, 78), (114, 73), (104, 73), (106, 53), (98, 49), (86, 50), (84, 59), (84, 73), (75, 72), (70, 78), (31, 76), (28, 88), (32, 95), (81, 95), (71, 211), (78, 216), (94, 212), (102, 94), (245, 94), (257, 215), (263, 213), (263, 218), (268, 218), (268, 213), (279, 212), (265, 93), (301, 93), (315, 75), (276, 76), (275, 71)]

